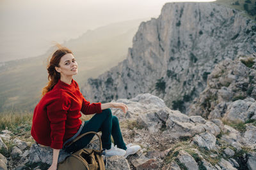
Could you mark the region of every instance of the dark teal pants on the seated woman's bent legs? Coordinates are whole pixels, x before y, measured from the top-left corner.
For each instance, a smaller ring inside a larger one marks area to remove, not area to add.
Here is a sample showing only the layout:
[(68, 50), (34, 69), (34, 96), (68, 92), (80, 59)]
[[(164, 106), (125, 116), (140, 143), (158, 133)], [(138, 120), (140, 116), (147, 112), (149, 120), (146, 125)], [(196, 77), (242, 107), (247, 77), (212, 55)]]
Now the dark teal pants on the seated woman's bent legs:
[[(114, 139), (115, 145), (118, 148), (126, 150), (124, 139), (120, 131), (118, 118), (112, 115), (111, 110), (108, 108), (102, 110), (102, 113), (96, 113), (90, 120), (84, 122), (84, 127), (81, 131), (81, 134), (86, 132), (102, 132), (101, 141), (102, 148), (107, 150), (111, 148), (111, 135)], [(77, 150), (84, 148), (92, 140), (94, 134), (88, 134), (83, 138), (79, 139), (72, 145), (65, 148), (66, 152), (74, 153)]]

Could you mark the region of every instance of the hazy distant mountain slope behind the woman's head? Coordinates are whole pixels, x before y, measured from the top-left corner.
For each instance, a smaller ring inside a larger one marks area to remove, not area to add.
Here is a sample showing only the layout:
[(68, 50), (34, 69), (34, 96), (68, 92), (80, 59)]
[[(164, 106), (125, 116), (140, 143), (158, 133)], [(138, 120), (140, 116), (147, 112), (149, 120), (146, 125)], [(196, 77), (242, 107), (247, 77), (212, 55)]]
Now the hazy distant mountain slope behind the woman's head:
[[(63, 44), (74, 52), (79, 64), (79, 74), (74, 77), (79, 85), (125, 59), (127, 48), (132, 45), (132, 36), (143, 20), (147, 19), (109, 24)], [(0, 64), (0, 113), (35, 108), (47, 83), (46, 61), (53, 51), (51, 48), (38, 57)]]

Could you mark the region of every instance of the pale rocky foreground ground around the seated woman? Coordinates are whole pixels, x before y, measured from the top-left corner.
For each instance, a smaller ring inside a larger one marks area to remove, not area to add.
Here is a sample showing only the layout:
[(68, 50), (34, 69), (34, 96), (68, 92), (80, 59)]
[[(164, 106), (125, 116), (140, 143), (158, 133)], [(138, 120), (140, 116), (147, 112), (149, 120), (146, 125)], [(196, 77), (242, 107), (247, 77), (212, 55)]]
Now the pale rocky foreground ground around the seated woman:
[[(122, 110), (111, 110), (120, 121), (125, 143), (138, 143), (142, 150), (127, 159), (106, 159), (107, 169), (237, 169), (241, 165), (254, 166), (254, 124), (246, 124), (245, 132), (241, 133), (218, 119), (188, 117), (180, 111), (170, 110), (162, 99), (151, 94), (113, 102), (127, 104), (129, 111), (126, 115)], [(26, 169), (33, 165), (40, 169), (49, 167), (51, 148), (35, 143), (29, 148), (28, 143), (12, 138), (11, 134), (9, 142), (15, 145), (8, 148), (10, 154), (5, 155), (9, 163), (0, 157), (2, 167), (4, 164), (10, 169)], [(88, 147), (99, 148), (95, 141)], [(61, 150), (59, 162), (67, 156)]]

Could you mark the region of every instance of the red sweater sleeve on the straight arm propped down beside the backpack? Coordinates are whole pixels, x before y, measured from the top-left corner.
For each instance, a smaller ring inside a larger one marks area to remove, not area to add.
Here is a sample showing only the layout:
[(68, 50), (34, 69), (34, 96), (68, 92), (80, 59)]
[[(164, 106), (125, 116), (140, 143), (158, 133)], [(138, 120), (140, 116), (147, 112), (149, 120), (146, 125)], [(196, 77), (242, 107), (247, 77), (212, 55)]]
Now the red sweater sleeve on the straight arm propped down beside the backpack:
[(47, 106), (47, 116), (51, 122), (51, 148), (61, 149), (65, 134), (68, 101), (61, 96)]

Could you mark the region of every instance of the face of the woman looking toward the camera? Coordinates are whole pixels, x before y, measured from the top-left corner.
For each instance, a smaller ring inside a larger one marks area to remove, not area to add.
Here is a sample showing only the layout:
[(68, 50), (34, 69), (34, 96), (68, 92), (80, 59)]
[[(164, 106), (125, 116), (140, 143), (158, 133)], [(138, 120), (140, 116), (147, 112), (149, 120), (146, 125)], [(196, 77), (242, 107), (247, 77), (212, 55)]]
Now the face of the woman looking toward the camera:
[(74, 76), (77, 74), (77, 62), (72, 53), (63, 55), (60, 59), (59, 67), (55, 67), (61, 76)]

